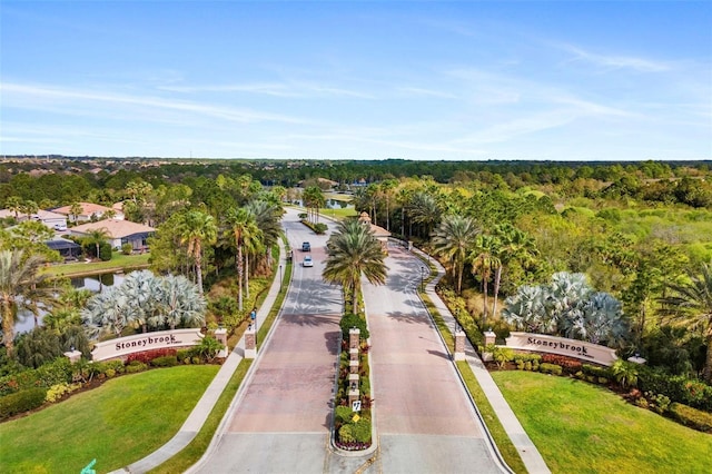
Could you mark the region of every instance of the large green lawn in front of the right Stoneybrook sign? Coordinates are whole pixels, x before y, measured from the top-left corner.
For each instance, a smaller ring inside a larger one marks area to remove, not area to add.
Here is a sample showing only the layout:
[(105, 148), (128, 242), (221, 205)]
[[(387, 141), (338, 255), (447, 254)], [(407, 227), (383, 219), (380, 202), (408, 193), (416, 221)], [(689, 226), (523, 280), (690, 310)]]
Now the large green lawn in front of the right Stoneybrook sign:
[(554, 473), (710, 473), (712, 435), (568, 377), (493, 372)]

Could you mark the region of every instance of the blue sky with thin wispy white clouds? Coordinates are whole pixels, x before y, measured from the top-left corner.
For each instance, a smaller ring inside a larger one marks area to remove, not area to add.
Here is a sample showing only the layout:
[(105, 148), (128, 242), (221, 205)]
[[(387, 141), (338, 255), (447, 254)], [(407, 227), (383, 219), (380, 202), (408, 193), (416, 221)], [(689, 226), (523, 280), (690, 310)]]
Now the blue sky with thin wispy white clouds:
[(0, 0), (0, 152), (712, 159), (712, 1)]

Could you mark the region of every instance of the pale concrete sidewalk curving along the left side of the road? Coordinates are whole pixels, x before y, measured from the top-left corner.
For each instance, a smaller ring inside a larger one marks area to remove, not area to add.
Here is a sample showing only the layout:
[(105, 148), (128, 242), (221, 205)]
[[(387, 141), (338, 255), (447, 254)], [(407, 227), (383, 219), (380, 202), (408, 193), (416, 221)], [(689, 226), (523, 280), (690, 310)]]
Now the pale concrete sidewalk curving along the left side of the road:
[[(279, 261), (283, 261), (286, 256), (286, 251), (284, 248), (284, 243), (281, 239), (279, 241)], [(261, 306), (257, 310), (257, 329), (261, 326), (263, 322), (269, 316), (269, 312), (271, 310), (275, 300), (277, 299), (277, 295), (279, 295), (281, 282), (279, 282), (279, 276), (275, 275), (275, 279), (269, 287), (269, 292), (265, 297)], [(218, 398), (225, 391), (227, 383), (233, 377), (233, 374), (237, 369), (237, 366), (243, 362), (243, 357), (245, 354), (245, 336), (240, 338), (240, 340), (235, 346), (235, 349), (230, 353), (230, 355), (225, 359), (222, 366), (218, 371), (217, 375), (208, 385), (205, 393), (198, 401), (198, 404), (192, 408), (190, 415), (182, 424), (178, 433), (168, 441), (168, 443), (164, 444), (157, 451), (152, 452), (148, 456), (139, 460), (123, 468), (113, 471), (113, 473), (145, 473), (155, 467), (158, 467), (180, 451), (182, 451), (198, 434), (202, 425), (205, 424), (208, 415), (212, 411), (212, 407), (217, 403)]]

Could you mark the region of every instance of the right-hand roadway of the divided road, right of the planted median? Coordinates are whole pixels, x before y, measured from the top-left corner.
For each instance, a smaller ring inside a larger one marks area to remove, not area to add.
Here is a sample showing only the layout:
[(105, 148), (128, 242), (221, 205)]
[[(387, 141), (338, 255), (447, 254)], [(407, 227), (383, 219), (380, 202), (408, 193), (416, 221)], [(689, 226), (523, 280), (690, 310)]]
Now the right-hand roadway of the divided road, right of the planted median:
[(416, 294), (421, 260), (392, 246), (386, 265), (385, 286), (364, 285), (380, 447), (367, 472), (501, 472)]

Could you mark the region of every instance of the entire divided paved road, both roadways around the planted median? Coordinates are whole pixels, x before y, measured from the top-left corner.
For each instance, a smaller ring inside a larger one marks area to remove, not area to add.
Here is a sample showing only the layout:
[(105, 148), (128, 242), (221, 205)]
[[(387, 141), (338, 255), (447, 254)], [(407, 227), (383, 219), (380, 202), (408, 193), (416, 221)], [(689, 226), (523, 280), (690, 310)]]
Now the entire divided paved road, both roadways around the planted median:
[[(461, 473), (496, 468), (474, 411), (415, 285), (419, 260), (393, 248), (386, 286), (365, 285), (379, 450), (346, 457), (329, 445), (342, 312), (322, 280), (326, 236), (289, 210), (295, 273), (274, 333), (238, 392), (200, 473)], [(300, 264), (312, 243), (313, 268)], [(369, 460), (370, 458), (370, 460)]]

